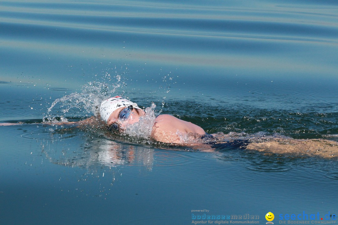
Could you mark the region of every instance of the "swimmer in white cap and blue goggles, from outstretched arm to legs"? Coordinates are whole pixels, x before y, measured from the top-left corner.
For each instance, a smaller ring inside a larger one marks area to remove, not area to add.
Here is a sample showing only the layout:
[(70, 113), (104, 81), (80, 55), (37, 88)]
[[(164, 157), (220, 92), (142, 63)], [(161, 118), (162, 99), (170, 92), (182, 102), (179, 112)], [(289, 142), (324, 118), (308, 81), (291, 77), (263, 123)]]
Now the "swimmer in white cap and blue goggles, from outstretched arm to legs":
[[(100, 117), (90, 117), (78, 122), (58, 122), (53, 124), (93, 125), (100, 120), (109, 130), (123, 133), (128, 125), (137, 123), (146, 113), (134, 102), (120, 96), (104, 100), (100, 105)], [(0, 123), (0, 126), (18, 125), (20, 123)], [(45, 123), (46, 124), (46, 123)], [(48, 124), (48, 123), (47, 123)], [(185, 137), (189, 137), (188, 139)], [(151, 139), (170, 144), (189, 146), (199, 151), (215, 151), (221, 148), (256, 150), (277, 154), (293, 154), (296, 156), (320, 156), (332, 158), (338, 156), (338, 142), (325, 139), (292, 139), (272, 136), (252, 137), (244, 140), (223, 141), (229, 135), (209, 135), (198, 125), (178, 119), (172, 115), (162, 114), (154, 119), (151, 128)], [(207, 137), (210, 142), (201, 139)]]

